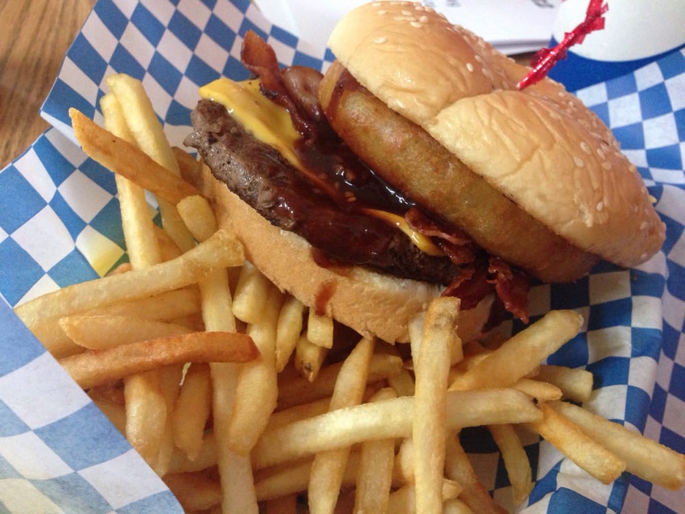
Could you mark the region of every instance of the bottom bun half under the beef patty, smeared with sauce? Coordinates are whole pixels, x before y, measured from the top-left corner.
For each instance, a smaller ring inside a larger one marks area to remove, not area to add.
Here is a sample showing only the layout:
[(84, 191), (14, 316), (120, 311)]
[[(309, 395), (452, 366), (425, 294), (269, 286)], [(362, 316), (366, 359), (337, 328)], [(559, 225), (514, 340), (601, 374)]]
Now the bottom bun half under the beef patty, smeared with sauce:
[[(443, 289), (435, 284), (395, 278), (364, 267), (321, 267), (301, 236), (279, 229), (214, 178), (206, 166), (185, 176), (212, 202), (217, 221), (245, 246), (245, 256), (281, 291), (356, 330), (388, 343), (409, 341), (410, 320)], [(458, 334), (471, 341), (481, 333), (493, 298), (462, 310)]]

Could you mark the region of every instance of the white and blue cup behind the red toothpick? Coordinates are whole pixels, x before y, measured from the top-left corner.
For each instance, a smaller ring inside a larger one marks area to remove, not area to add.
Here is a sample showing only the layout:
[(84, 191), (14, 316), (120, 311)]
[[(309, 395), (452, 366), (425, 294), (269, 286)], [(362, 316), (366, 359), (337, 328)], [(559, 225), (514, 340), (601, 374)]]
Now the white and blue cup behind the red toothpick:
[[(577, 90), (624, 75), (685, 47), (685, 0), (606, 0), (604, 28), (568, 51), (549, 77)], [(566, 0), (550, 46), (585, 19), (589, 0)]]

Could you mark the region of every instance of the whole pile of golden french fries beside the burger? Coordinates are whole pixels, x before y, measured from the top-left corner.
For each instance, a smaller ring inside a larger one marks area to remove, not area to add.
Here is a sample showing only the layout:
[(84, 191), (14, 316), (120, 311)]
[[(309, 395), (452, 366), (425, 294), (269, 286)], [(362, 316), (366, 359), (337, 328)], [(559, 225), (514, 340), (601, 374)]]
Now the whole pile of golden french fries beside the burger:
[(203, 164), (169, 145), (142, 84), (120, 74), (108, 86), (104, 128), (71, 116), (116, 173), (129, 262), (16, 314), (186, 512), (501, 512), (460, 445), (471, 426), (501, 450), (512, 505), (534, 483), (531, 431), (601, 482), (627, 471), (682, 487), (685, 456), (578, 406), (588, 371), (541, 364), (580, 315), (461, 341), (460, 302), (444, 297), (412, 321), (410, 352), (360, 339), (245, 260), (182, 180)]

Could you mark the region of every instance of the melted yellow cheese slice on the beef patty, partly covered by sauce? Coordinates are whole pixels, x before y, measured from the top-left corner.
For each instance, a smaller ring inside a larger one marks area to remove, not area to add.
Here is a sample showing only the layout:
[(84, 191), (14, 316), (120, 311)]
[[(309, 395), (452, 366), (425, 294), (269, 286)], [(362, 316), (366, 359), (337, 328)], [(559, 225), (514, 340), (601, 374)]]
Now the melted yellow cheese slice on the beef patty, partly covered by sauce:
[[(292, 125), (290, 113), (260, 93), (258, 79), (234, 82), (223, 77), (202, 86), (199, 93), (200, 97), (225, 106), (245, 130), (277, 149), (292, 166), (304, 172), (304, 164), (295, 153), (295, 143), (300, 134)], [(403, 217), (377, 209), (364, 209), (364, 212), (397, 227), (425, 254), (445, 255), (430, 238), (412, 230)]]

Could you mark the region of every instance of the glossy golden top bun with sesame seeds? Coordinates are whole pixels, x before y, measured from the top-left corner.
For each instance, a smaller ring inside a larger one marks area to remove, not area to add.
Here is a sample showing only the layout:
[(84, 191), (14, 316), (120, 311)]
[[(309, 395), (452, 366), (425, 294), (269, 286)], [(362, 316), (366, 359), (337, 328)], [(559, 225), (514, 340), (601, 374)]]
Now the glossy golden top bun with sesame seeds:
[(664, 223), (636, 167), (561, 84), (518, 90), (527, 67), (409, 1), (352, 10), (329, 47), (373, 95), (573, 245), (625, 267), (658, 252)]

